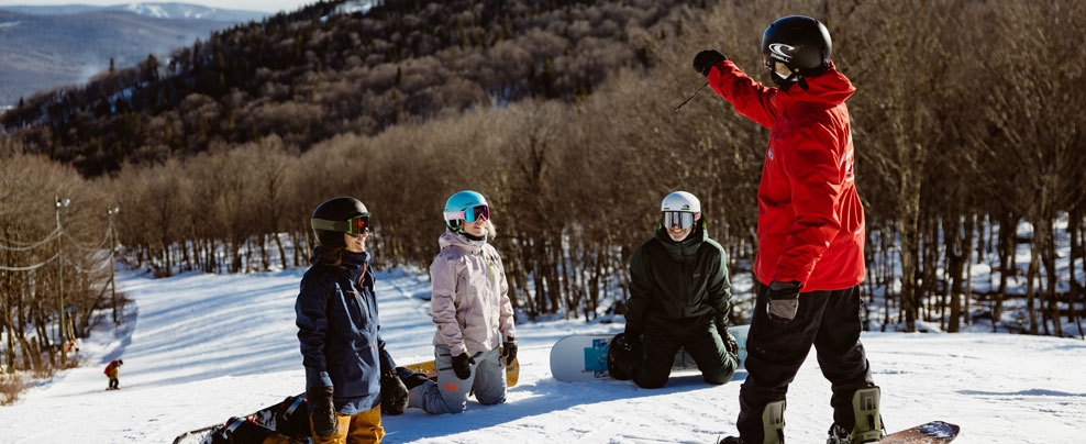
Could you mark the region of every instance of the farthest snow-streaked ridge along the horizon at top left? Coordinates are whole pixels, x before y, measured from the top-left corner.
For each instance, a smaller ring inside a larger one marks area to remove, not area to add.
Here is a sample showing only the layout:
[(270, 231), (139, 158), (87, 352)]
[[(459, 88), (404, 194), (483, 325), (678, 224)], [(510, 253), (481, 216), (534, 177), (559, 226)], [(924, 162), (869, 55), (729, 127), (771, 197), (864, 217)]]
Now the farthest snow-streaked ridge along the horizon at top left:
[(0, 7), (0, 10), (20, 12), (33, 15), (71, 15), (85, 12), (100, 11), (126, 11), (137, 15), (153, 16), (155, 19), (199, 19), (212, 20), (217, 22), (247, 22), (250, 20), (261, 20), (267, 15), (261, 11), (242, 11), (222, 8), (204, 7), (191, 3), (163, 3), (163, 2), (135, 2), (119, 3), (106, 7), (92, 4), (60, 4), (60, 5), (12, 5)]

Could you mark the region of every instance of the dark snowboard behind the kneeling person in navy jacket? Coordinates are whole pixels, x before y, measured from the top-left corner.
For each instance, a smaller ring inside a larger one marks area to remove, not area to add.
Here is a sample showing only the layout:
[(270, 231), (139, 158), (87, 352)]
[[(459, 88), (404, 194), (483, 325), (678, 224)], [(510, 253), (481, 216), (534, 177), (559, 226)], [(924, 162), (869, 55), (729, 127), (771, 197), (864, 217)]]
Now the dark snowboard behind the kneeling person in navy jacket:
[(306, 393), (226, 422), (177, 435), (174, 444), (296, 444), (308, 443), (309, 406)]

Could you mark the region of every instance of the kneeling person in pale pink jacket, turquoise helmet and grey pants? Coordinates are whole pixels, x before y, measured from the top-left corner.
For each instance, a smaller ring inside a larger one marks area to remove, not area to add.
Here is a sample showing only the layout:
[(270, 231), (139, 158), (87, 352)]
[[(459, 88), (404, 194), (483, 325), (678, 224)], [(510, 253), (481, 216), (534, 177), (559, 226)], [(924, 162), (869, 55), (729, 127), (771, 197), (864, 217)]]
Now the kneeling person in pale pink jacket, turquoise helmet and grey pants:
[(463, 412), (469, 393), (483, 404), (505, 402), (506, 364), (517, 357), (506, 270), (488, 243), (495, 230), (486, 198), (457, 192), (444, 215), (447, 230), (430, 265), (437, 381), (410, 390), (410, 406), (433, 414)]

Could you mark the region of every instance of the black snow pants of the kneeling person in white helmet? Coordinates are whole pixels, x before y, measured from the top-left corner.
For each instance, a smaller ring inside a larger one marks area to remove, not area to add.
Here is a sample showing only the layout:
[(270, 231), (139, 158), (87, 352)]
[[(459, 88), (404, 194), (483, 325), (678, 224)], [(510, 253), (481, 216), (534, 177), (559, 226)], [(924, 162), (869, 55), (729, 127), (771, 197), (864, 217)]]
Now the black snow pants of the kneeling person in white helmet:
[(660, 328), (650, 322), (641, 335), (642, 353), (630, 366), (631, 379), (641, 388), (661, 388), (672, 375), (672, 364), (680, 348), (694, 358), (706, 382), (731, 380), (739, 358), (728, 353), (711, 318), (692, 319), (684, 328)]

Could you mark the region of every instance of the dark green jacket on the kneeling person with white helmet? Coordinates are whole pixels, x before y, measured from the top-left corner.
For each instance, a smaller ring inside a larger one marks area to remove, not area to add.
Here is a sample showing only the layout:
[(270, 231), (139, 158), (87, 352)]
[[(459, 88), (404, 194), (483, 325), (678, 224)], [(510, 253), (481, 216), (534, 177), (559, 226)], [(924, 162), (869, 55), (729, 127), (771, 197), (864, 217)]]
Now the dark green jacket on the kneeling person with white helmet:
[(645, 329), (679, 332), (714, 318), (727, 321), (731, 303), (728, 254), (705, 231), (705, 218), (683, 242), (664, 229), (645, 241), (630, 259), (627, 333)]

